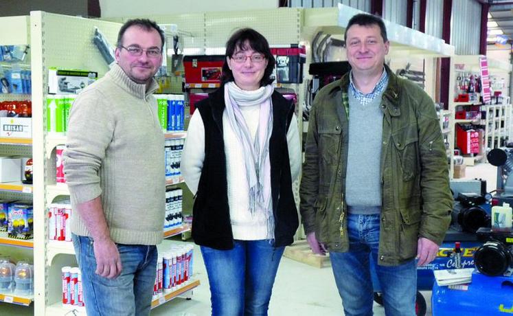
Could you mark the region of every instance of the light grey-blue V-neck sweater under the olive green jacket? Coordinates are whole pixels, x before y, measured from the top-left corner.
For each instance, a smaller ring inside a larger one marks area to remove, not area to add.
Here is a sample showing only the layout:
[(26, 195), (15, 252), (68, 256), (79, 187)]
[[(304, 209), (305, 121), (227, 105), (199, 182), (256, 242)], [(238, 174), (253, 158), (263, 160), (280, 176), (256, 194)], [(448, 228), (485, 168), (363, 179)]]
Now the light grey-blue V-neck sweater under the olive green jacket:
[(379, 93), (362, 105), (349, 97), (349, 147), (345, 177), (345, 201), (350, 213), (376, 214), (381, 210), (380, 159), (383, 111)]

